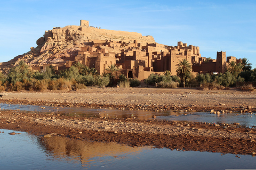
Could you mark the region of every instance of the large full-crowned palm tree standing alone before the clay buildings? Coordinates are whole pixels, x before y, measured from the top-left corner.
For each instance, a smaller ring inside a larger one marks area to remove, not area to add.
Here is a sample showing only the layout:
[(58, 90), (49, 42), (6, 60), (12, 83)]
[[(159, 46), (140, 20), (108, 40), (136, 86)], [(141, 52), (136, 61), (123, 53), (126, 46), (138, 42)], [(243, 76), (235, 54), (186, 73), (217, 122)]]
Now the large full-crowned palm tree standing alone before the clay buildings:
[(181, 83), (183, 83), (183, 87), (185, 87), (186, 75), (192, 72), (192, 65), (186, 59), (180, 61), (177, 65), (177, 75), (181, 79)]

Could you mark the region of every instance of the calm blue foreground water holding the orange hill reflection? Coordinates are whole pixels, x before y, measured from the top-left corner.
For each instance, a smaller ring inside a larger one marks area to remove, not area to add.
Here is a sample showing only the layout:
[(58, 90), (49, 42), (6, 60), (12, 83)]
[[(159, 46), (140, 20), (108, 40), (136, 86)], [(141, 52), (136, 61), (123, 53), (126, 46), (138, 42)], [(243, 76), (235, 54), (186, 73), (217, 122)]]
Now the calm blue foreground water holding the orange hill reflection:
[[(129, 147), (0, 130), (0, 169), (254, 169), (256, 157)], [(10, 135), (15, 132), (20, 134)], [(236, 157), (237, 156), (237, 157)]]

